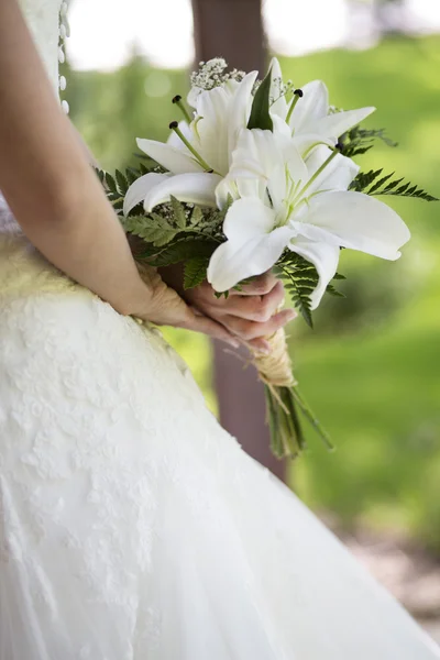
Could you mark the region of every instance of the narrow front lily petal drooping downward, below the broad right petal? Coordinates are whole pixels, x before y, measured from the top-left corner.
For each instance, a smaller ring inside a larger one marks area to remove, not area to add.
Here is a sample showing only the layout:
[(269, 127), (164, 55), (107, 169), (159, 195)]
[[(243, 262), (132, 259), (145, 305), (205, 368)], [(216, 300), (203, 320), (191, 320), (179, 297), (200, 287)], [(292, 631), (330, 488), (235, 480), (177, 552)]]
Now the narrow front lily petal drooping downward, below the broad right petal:
[(311, 309), (316, 309), (326, 293), (327, 285), (336, 275), (340, 250), (337, 245), (308, 241), (299, 237), (289, 243), (289, 249), (311, 262), (317, 270), (318, 286), (310, 295)]

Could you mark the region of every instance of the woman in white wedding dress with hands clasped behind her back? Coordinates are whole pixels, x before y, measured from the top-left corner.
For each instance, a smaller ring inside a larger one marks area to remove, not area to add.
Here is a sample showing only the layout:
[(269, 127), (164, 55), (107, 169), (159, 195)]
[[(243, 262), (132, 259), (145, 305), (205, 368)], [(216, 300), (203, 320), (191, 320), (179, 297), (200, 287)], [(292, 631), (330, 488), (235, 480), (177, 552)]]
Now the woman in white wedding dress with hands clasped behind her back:
[(440, 658), (150, 324), (265, 351), (282, 285), (184, 301), (176, 273), (140, 276), (50, 85), (65, 7), (20, 4), (0, 1), (0, 660)]

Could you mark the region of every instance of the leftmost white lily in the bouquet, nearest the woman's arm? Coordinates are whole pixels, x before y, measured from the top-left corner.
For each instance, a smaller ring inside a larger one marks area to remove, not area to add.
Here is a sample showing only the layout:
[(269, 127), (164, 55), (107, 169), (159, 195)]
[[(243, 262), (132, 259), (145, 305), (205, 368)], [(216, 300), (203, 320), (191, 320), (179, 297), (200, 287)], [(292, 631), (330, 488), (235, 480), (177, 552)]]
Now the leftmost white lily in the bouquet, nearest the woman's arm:
[(142, 187), (147, 211), (169, 201), (172, 195), (182, 201), (216, 206), (215, 188), (227, 175), (239, 133), (248, 125), (256, 76), (257, 72), (252, 72), (241, 82), (231, 80), (201, 91), (195, 99), (194, 121), (189, 125), (187, 122), (176, 124), (166, 143), (138, 140), (141, 151), (174, 176), (166, 175), (166, 182), (155, 179), (155, 184), (163, 184), (157, 190), (152, 186), (150, 174), (142, 177), (142, 183), (135, 182), (135, 194), (131, 188), (128, 193), (125, 215), (135, 206), (131, 200), (139, 204)]

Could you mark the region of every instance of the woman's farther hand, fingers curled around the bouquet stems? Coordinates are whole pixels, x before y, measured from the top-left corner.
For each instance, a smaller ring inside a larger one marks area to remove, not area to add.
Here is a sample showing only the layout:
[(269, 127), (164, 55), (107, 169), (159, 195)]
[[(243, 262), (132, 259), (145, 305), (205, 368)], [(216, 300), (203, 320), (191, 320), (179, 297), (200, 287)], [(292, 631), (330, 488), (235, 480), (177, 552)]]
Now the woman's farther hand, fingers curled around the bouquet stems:
[(273, 273), (265, 273), (241, 292), (231, 290), (228, 298), (217, 298), (212, 287), (205, 282), (191, 289), (183, 288), (182, 267), (161, 270), (161, 276), (182, 297), (217, 324), (228, 329), (231, 336), (246, 345), (266, 352), (265, 337), (270, 337), (296, 317), (292, 309), (277, 311), (284, 300), (284, 287)]

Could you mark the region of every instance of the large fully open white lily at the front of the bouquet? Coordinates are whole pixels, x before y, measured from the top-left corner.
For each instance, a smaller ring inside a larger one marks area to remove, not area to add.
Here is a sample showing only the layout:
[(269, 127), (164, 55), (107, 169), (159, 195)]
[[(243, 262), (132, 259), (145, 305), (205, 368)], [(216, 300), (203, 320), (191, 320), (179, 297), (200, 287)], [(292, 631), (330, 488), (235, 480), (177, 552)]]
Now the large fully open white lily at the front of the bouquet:
[(350, 158), (326, 146), (304, 161), (292, 140), (243, 130), (224, 184), (241, 198), (224, 220), (228, 240), (209, 264), (213, 288), (228, 290), (260, 275), (288, 248), (317, 268), (315, 309), (337, 272), (341, 246), (398, 258), (408, 228), (385, 204), (346, 190), (356, 172)]

